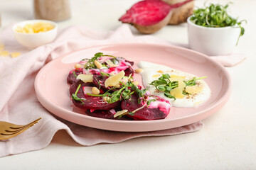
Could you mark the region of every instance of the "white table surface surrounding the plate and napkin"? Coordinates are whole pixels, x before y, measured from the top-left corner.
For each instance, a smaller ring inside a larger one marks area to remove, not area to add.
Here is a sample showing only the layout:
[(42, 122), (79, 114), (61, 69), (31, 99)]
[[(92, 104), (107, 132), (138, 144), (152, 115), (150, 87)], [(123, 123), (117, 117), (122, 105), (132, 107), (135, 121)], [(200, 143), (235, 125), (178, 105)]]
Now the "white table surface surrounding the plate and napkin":
[[(119, 16), (134, 2), (71, 0), (72, 18), (58, 26), (85, 24), (96, 30), (114, 30), (121, 25)], [(235, 49), (247, 54), (247, 60), (227, 68), (233, 92), (220, 111), (203, 120), (202, 130), (92, 147), (82, 147), (60, 131), (45, 149), (0, 158), (0, 169), (256, 169), (256, 1), (233, 2), (232, 12), (248, 21)], [(202, 4), (196, 1), (196, 6)], [(10, 23), (32, 19), (32, 1), (0, 0), (0, 13), (2, 30)], [(154, 36), (187, 43), (186, 23), (166, 26)]]

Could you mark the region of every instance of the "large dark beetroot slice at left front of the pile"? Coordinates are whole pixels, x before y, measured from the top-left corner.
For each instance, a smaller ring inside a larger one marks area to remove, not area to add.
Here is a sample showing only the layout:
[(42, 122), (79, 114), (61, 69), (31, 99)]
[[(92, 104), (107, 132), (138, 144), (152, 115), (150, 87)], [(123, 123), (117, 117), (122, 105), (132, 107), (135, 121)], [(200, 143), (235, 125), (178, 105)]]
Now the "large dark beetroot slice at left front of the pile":
[[(120, 105), (121, 101), (117, 101), (114, 103), (107, 103), (106, 101), (103, 101), (102, 97), (94, 97), (85, 95), (82, 91), (83, 86), (91, 86), (91, 83), (83, 83), (82, 81), (78, 81), (75, 84), (72, 84), (70, 86), (70, 95), (75, 94), (75, 91), (78, 89), (79, 84), (81, 84), (80, 89), (78, 90), (78, 98), (82, 98), (81, 101), (76, 101), (73, 99), (73, 103), (78, 108), (84, 108), (84, 109), (92, 109), (92, 110), (110, 110), (111, 108), (116, 108)], [(94, 85), (92, 85), (94, 86)]]

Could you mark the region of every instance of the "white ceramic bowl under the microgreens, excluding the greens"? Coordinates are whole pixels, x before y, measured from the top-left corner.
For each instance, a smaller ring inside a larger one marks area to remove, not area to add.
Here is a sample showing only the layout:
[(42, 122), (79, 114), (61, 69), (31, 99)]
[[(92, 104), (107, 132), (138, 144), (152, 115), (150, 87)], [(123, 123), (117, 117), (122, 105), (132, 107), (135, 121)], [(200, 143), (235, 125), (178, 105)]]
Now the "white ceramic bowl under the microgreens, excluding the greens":
[(240, 28), (208, 28), (198, 26), (188, 17), (188, 44), (192, 50), (216, 56), (233, 52), (240, 35)]

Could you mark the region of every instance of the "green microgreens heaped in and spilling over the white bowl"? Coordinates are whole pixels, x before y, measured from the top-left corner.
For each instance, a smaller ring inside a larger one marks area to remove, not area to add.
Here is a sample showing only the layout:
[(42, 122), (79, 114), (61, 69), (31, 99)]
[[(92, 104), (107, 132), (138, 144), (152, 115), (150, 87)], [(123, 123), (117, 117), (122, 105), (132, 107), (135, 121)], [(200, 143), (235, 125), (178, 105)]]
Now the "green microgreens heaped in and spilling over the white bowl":
[[(238, 40), (245, 33), (245, 28), (241, 26), (242, 22), (247, 22), (245, 20), (238, 21), (238, 18), (232, 18), (228, 15), (227, 8), (229, 4), (225, 6), (220, 4), (210, 4), (210, 6), (205, 6), (205, 8), (198, 8), (193, 11), (193, 16), (191, 16), (191, 21), (198, 26), (220, 28), (220, 27), (239, 27), (240, 35)], [(238, 41), (237, 41), (238, 45)]]

